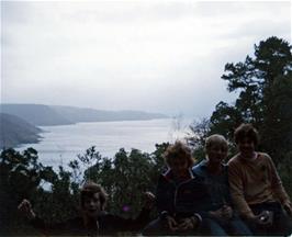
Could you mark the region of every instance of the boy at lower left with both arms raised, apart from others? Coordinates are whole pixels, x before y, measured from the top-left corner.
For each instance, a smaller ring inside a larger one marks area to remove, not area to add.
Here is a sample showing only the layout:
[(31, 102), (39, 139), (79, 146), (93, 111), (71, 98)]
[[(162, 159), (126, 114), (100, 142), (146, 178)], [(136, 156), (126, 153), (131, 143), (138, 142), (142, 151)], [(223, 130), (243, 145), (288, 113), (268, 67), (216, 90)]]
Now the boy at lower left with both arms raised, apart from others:
[(78, 217), (67, 219), (63, 223), (44, 223), (32, 210), (30, 201), (23, 200), (19, 205), (30, 223), (43, 234), (66, 236), (98, 236), (116, 235), (119, 232), (137, 232), (149, 221), (149, 210), (154, 196), (147, 193), (147, 202), (136, 219), (125, 219), (104, 211), (106, 193), (102, 187), (89, 182), (83, 185), (80, 194), (82, 213)]

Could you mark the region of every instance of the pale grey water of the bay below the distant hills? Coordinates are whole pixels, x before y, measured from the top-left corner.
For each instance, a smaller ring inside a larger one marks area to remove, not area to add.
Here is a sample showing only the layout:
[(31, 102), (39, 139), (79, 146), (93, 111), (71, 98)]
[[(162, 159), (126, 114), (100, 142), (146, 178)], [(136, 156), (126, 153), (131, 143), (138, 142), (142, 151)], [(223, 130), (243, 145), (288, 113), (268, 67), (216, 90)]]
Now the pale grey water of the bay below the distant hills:
[(123, 121), (78, 123), (74, 125), (43, 126), (45, 132), (38, 144), (23, 145), (19, 150), (33, 147), (40, 161), (47, 166), (65, 166), (91, 146), (102, 156), (113, 157), (120, 148), (136, 148), (146, 153), (155, 150), (155, 144), (173, 142), (186, 135), (189, 125), (173, 127), (173, 120)]

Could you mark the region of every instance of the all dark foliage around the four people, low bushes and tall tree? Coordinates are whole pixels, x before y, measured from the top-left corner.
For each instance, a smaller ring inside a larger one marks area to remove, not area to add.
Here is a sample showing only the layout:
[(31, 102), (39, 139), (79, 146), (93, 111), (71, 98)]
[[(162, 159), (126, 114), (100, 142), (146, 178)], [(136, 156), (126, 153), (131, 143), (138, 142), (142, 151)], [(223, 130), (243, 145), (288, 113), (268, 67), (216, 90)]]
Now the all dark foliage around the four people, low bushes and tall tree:
[[(292, 194), (292, 56), (288, 42), (277, 37), (255, 45), (255, 58), (226, 64), (222, 79), (228, 91), (239, 91), (234, 104), (221, 101), (210, 120), (194, 122), (188, 137), (198, 160), (204, 158), (204, 140), (214, 133), (233, 140), (233, 132), (243, 122), (252, 123), (261, 134), (261, 148), (276, 161), (283, 184)], [(113, 158), (102, 157), (90, 147), (68, 170), (44, 167), (37, 151), (5, 149), (0, 155), (0, 235), (32, 233), (23, 225), (16, 206), (30, 199), (36, 213), (47, 222), (59, 222), (78, 213), (79, 188), (87, 180), (100, 183), (110, 194), (108, 210), (135, 216), (143, 192), (154, 191), (164, 171), (162, 154), (168, 143), (156, 145), (153, 154), (120, 149)], [(234, 154), (235, 146), (231, 143)], [(18, 228), (16, 228), (18, 227)]]

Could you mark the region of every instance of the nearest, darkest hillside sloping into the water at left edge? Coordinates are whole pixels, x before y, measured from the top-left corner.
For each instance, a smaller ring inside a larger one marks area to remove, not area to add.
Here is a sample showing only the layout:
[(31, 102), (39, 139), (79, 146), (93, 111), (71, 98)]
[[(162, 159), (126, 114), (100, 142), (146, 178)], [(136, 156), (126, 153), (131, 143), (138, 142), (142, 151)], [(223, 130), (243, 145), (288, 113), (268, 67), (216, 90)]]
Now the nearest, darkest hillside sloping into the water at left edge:
[(37, 143), (42, 129), (11, 114), (0, 113), (0, 149)]

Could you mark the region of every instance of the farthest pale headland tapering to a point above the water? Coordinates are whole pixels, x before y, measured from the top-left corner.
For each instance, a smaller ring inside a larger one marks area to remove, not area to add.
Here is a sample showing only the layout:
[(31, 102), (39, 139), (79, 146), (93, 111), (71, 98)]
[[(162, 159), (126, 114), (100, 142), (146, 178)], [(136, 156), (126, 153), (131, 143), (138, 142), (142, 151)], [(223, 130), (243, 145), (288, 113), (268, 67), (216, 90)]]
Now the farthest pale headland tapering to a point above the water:
[(105, 121), (134, 121), (166, 119), (158, 113), (147, 113), (142, 111), (103, 111), (74, 106), (50, 106), (58, 114), (74, 122), (105, 122)]

